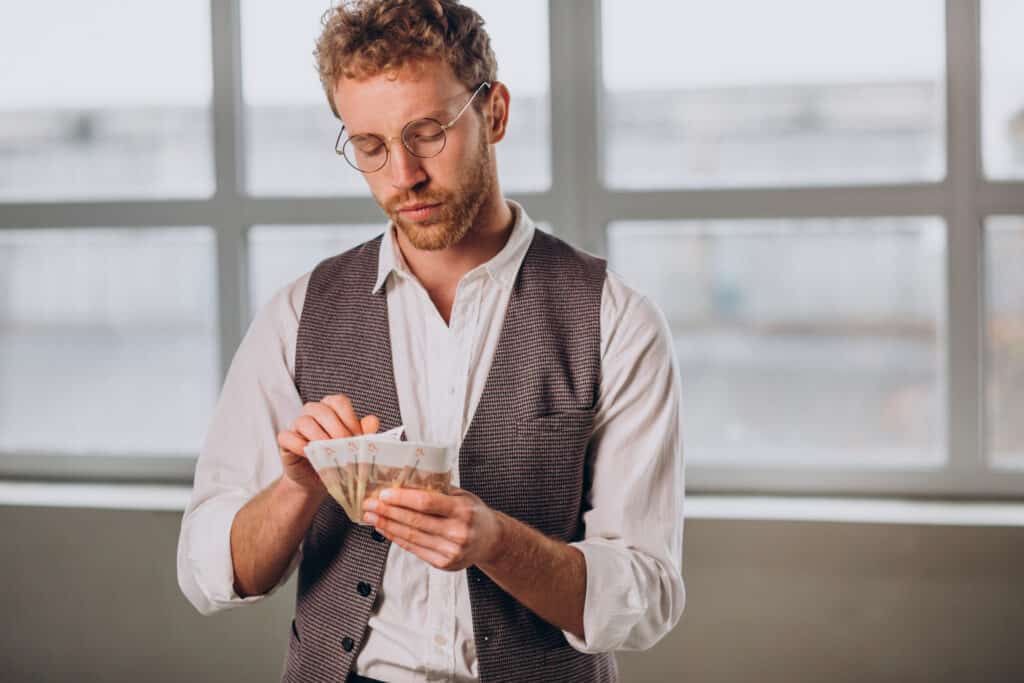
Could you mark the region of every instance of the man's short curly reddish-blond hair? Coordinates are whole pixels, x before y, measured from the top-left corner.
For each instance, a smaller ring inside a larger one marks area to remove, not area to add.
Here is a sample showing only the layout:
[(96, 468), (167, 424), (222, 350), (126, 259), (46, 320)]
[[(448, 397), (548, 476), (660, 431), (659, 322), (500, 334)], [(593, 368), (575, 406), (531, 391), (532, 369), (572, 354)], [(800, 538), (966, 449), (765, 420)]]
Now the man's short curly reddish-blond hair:
[(332, 93), (342, 77), (359, 80), (441, 59), (467, 90), (498, 78), (483, 18), (458, 0), (342, 0), (321, 24), (313, 57), (336, 117)]

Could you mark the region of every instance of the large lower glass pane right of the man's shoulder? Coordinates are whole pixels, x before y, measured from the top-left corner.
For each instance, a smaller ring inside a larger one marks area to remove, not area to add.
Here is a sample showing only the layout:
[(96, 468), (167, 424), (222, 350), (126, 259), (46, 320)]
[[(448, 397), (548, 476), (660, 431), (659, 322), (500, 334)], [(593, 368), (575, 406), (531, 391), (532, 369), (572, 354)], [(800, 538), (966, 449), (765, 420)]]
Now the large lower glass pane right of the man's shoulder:
[(940, 220), (624, 222), (608, 254), (672, 327), (690, 462), (944, 458)]

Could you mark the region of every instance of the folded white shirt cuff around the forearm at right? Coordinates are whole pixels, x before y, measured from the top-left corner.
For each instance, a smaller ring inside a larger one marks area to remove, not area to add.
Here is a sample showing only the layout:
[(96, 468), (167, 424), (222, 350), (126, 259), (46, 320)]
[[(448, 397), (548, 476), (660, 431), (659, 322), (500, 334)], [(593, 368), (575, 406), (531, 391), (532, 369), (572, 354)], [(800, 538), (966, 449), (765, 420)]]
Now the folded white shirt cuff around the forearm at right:
[(634, 574), (633, 554), (607, 539), (569, 545), (587, 561), (584, 638), (562, 633), (569, 645), (587, 654), (618, 649), (647, 610), (647, 600)]

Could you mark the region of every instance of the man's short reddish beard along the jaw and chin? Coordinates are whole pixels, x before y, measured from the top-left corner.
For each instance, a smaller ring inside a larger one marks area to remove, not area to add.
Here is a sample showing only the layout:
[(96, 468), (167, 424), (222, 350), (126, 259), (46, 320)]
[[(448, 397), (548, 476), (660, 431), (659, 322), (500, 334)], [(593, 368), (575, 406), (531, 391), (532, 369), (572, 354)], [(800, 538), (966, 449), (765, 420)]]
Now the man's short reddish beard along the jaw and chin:
[[(406, 191), (393, 198), (384, 213), (398, 226), (417, 249), (438, 251), (458, 244), (473, 228), (480, 207), (490, 193), (492, 171), (487, 165), (486, 131), (481, 131), (474, 159), (460, 169), (455, 189), (424, 189)], [(401, 218), (398, 207), (409, 204), (440, 204), (424, 221), (410, 222)]]

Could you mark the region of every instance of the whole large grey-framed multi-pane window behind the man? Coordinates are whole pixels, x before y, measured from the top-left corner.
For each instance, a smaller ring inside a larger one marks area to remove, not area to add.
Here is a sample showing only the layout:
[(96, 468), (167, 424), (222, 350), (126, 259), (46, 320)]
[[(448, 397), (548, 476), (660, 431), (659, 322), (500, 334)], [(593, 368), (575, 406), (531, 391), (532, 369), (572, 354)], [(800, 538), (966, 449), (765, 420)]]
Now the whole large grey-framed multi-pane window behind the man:
[[(691, 490), (1024, 497), (1022, 3), (467, 1), (503, 189), (669, 318)], [(186, 480), (255, 311), (384, 228), (332, 4), (0, 24), (0, 473)]]

